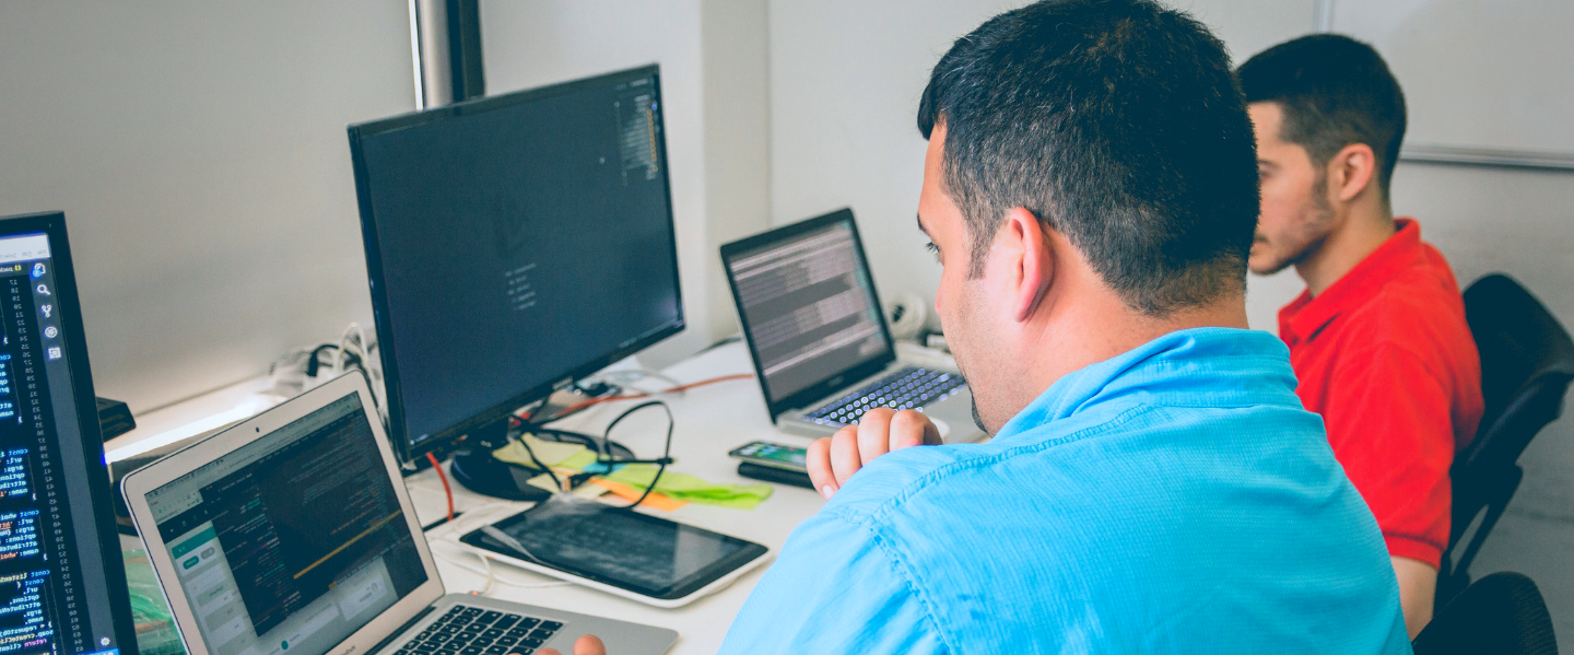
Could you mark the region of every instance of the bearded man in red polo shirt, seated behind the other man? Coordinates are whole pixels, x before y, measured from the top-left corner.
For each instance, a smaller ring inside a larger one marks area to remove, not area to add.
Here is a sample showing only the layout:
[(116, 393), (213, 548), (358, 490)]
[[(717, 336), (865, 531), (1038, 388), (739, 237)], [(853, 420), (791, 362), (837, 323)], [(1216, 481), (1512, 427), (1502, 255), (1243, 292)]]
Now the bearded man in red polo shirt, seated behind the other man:
[(1258, 140), (1253, 272), (1295, 266), (1280, 310), (1306, 409), (1382, 527), (1410, 638), (1432, 617), (1454, 452), (1481, 420), (1481, 362), (1448, 261), (1388, 205), (1404, 94), (1382, 57), (1336, 35), (1236, 71)]

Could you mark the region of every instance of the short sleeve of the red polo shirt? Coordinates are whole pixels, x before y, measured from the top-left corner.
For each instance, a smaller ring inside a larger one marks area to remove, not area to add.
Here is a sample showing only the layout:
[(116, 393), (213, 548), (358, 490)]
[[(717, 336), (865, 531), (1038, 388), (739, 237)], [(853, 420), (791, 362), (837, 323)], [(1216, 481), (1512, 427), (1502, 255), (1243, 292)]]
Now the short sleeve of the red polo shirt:
[(1451, 395), (1396, 345), (1341, 357), (1322, 420), (1333, 455), (1377, 518), (1388, 554), (1437, 567), (1448, 546)]

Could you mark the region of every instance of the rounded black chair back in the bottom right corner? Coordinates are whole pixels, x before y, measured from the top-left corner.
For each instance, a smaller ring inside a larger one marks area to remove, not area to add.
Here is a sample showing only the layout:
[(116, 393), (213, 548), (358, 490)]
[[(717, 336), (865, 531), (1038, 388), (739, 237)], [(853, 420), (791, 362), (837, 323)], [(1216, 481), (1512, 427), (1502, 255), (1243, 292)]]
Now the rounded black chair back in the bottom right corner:
[(1415, 636), (1415, 655), (1557, 655), (1552, 614), (1519, 573), (1481, 578)]

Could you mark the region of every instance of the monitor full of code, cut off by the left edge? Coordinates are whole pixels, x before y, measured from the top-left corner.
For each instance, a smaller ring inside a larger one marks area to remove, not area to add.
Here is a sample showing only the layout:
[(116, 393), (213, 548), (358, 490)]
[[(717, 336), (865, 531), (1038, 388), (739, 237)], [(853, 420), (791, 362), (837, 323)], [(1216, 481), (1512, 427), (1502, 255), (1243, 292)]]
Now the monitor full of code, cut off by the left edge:
[(137, 652), (65, 214), (0, 219), (0, 653)]

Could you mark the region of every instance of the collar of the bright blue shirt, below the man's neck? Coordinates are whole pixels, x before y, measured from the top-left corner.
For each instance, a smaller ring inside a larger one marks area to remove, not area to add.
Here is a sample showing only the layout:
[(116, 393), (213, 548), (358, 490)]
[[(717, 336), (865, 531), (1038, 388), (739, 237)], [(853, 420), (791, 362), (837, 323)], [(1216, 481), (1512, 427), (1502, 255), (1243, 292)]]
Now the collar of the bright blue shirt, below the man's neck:
[(1300, 398), (1284, 342), (1261, 331), (1195, 328), (1062, 376), (1006, 422), (995, 441), (1092, 408), (1132, 403), (1300, 406)]

